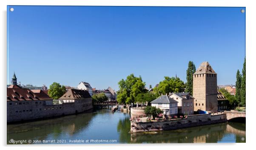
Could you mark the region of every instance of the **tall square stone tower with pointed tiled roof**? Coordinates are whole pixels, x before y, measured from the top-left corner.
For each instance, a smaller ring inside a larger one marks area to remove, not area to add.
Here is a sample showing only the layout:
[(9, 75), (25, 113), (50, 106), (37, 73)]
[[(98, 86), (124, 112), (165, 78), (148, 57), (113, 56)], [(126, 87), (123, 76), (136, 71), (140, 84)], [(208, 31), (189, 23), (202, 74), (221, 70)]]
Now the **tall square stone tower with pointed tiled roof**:
[(217, 74), (208, 62), (202, 62), (193, 74), (194, 111), (218, 111)]

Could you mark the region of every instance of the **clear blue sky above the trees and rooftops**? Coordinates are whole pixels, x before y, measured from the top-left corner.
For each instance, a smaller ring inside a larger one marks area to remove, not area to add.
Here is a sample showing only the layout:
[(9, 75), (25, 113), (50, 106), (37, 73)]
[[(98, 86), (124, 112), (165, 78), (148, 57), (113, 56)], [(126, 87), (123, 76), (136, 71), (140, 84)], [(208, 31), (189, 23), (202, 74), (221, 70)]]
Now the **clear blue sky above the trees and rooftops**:
[[(131, 73), (146, 86), (186, 82), (188, 61), (208, 61), (235, 84), (245, 57), (241, 7), (8, 6), (8, 83), (111, 86)], [(243, 8), (245, 9), (245, 8)]]

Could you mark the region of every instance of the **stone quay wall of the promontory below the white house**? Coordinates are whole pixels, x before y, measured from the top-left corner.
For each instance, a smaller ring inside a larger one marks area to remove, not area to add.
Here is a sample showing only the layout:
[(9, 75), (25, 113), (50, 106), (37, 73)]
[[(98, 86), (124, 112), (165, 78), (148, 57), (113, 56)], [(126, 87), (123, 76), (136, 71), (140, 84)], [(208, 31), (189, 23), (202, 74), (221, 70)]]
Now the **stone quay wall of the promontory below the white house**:
[(131, 122), (131, 133), (147, 132), (147, 131), (161, 131), (161, 130), (175, 130), (185, 127), (195, 127), (201, 125), (210, 125), (215, 123), (227, 122), (226, 114), (210, 115), (190, 115), (185, 119), (173, 119), (168, 121), (158, 122)]

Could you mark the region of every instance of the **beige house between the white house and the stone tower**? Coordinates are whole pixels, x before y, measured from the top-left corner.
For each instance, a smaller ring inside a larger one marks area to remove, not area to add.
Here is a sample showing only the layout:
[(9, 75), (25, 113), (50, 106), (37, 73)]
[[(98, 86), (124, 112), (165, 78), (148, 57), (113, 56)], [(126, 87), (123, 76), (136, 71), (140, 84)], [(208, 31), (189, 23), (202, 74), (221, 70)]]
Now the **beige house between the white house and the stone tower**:
[(179, 114), (194, 114), (194, 98), (189, 93), (170, 93), (168, 96), (178, 102)]

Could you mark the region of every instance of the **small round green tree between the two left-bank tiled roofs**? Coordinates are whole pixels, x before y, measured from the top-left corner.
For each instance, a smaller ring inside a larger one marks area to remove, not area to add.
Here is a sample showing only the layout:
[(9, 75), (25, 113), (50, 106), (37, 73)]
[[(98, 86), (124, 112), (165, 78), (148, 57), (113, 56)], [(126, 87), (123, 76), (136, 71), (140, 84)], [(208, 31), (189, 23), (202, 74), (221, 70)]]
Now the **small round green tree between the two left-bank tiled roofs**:
[(64, 85), (60, 85), (60, 83), (53, 82), (50, 85), (48, 94), (52, 99), (59, 99), (63, 94), (66, 93), (66, 88)]

